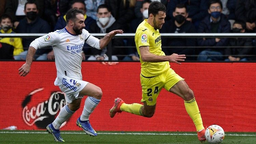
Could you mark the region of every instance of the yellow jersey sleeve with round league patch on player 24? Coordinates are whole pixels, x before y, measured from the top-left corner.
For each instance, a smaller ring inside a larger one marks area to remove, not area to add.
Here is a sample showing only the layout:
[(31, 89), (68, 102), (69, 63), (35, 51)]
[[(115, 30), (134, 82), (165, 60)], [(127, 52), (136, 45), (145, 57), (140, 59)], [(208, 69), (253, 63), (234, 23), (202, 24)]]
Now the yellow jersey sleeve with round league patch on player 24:
[(149, 41), (150, 41), (150, 37), (148, 34), (148, 30), (137, 30), (136, 32), (136, 36), (137, 36), (137, 42), (138, 42), (138, 47), (141, 46), (150, 46)]

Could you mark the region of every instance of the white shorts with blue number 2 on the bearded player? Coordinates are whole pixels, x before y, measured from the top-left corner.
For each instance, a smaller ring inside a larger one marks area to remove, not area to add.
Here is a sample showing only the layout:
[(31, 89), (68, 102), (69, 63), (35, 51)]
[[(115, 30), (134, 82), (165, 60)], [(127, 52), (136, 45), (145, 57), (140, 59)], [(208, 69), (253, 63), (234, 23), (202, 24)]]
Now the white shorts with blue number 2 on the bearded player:
[(87, 85), (87, 81), (77, 79), (65, 79), (62, 78), (61, 84), (58, 85), (60, 90), (65, 93), (66, 101), (71, 103), (74, 99), (83, 98), (84, 96), (78, 96), (79, 92)]

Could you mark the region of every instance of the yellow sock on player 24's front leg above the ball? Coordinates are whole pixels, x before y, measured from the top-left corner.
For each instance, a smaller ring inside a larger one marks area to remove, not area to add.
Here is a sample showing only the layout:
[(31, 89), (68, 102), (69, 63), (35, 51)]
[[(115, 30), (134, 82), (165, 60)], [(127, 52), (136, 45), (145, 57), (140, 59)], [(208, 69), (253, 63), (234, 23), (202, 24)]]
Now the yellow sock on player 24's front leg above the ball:
[(185, 108), (186, 108), (188, 115), (191, 117), (191, 119), (193, 120), (193, 122), (196, 126), (197, 131), (204, 129), (203, 121), (202, 121), (201, 114), (200, 114), (200, 111), (197, 106), (196, 99), (193, 98), (189, 101), (184, 101), (184, 104), (185, 104)]

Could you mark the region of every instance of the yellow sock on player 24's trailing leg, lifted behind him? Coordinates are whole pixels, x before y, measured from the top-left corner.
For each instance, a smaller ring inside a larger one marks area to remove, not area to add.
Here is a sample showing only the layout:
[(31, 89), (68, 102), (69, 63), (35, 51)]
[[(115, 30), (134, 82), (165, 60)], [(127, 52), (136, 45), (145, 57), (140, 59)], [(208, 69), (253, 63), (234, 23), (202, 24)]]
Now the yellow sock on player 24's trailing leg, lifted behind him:
[(132, 103), (132, 104), (123, 103), (120, 107), (120, 110), (143, 116), (142, 107), (143, 107), (143, 105), (141, 105), (139, 103)]

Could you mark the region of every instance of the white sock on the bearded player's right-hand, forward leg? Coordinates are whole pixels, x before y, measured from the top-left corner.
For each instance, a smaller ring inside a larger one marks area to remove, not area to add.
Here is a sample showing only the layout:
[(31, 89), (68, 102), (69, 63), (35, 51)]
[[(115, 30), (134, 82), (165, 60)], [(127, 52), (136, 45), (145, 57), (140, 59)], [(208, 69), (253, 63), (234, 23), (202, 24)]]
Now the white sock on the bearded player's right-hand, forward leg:
[(90, 114), (93, 112), (96, 106), (98, 106), (99, 103), (100, 99), (88, 96), (84, 102), (84, 109), (80, 117), (81, 121), (87, 121)]

